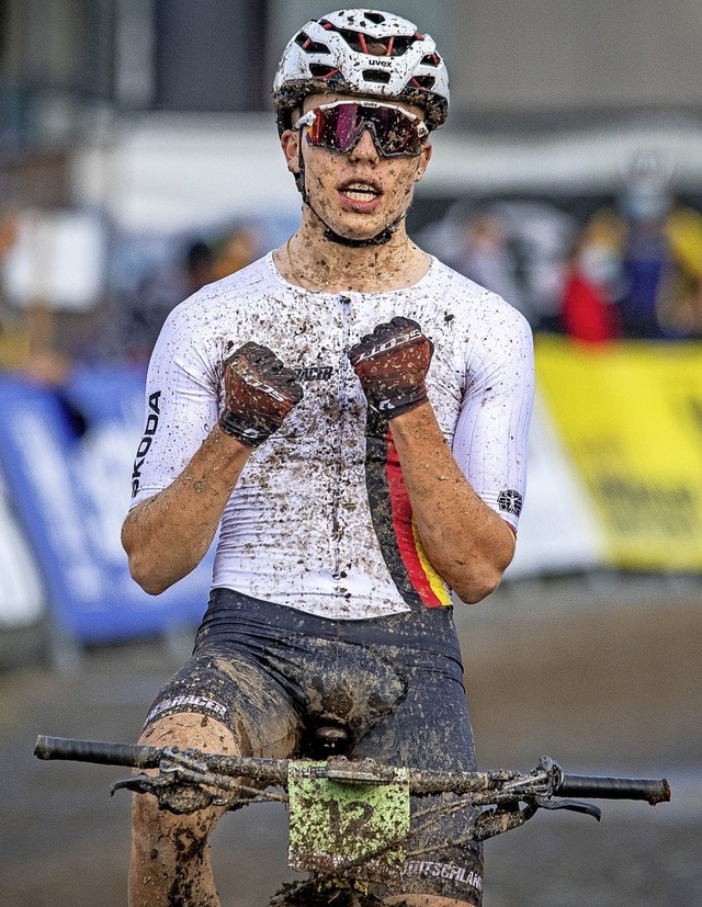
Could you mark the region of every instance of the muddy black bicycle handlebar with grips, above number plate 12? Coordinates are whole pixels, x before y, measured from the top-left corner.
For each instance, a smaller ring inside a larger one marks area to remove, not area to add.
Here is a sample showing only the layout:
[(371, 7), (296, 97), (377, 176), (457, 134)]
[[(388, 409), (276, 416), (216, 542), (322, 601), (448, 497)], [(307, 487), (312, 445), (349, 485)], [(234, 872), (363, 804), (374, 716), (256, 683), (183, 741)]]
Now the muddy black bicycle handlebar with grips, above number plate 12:
[[(69, 759), (78, 762), (97, 762), (105, 766), (124, 766), (136, 769), (157, 769), (167, 757), (182, 756), (202, 764), (202, 771), (219, 773), (230, 778), (245, 776), (268, 785), (284, 784), (287, 778), (288, 760), (251, 759), (247, 757), (204, 753), (195, 750), (160, 749), (151, 746), (132, 746), (93, 740), (73, 740), (65, 737), (39, 736), (34, 755), (39, 759)], [(327, 766), (331, 766), (331, 760)], [(353, 763), (349, 763), (353, 764)], [(359, 763), (370, 768), (376, 781), (393, 770), (377, 763)], [(389, 775), (388, 775), (389, 778)], [(416, 794), (453, 791), (458, 794), (487, 792), (498, 786), (514, 785), (514, 800), (520, 796), (533, 797), (539, 794), (537, 780), (519, 772), (430, 772), (410, 771), (410, 790)], [(532, 789), (523, 789), (530, 785)], [(542, 791), (543, 793), (543, 791)], [(550, 791), (564, 797), (591, 797), (595, 800), (642, 800), (655, 806), (670, 800), (670, 785), (666, 779), (597, 778), (564, 774), (559, 770), (556, 784)]]

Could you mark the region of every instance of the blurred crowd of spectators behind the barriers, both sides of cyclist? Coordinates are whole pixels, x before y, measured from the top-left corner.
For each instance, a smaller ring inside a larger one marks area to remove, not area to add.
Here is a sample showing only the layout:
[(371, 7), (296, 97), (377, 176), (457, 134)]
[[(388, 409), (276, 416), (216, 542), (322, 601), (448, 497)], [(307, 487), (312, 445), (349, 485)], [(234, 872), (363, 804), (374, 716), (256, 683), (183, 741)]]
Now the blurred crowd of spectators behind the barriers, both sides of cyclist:
[[(428, 220), (420, 197), (412, 234), (520, 309), (535, 332), (585, 343), (701, 339), (702, 213), (676, 196), (673, 177), (669, 160), (642, 149), (622, 162), (620, 192), (588, 200), (591, 211), (585, 213), (568, 199), (463, 195)], [(72, 260), (60, 270), (89, 272), (83, 281), (73, 272), (76, 296), (84, 293), (82, 282), (94, 290), (63, 306), (61, 275), (42, 292), (31, 274), (59, 270), (50, 246), (60, 246), (61, 231), (71, 227), (71, 214), (64, 216), (64, 224), (60, 217), (49, 222), (42, 237), (42, 215), (15, 204), (5, 209), (0, 234), (0, 364), (47, 379), (60, 375), (55, 369), (61, 361), (146, 364), (176, 305), (274, 248), (285, 227), (294, 229), (292, 216), (249, 215), (190, 235), (113, 233), (106, 242), (104, 223), (88, 217), (83, 248), (79, 235), (68, 250)]]

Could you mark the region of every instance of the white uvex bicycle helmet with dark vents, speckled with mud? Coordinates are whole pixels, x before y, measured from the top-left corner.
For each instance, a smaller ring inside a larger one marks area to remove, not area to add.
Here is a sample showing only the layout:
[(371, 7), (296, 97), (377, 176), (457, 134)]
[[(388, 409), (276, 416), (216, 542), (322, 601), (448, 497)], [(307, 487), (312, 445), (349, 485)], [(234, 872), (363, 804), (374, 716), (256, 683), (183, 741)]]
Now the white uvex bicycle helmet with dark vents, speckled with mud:
[(430, 35), (377, 10), (339, 10), (308, 22), (288, 42), (273, 80), (278, 127), (319, 91), (417, 104), (435, 129), (449, 114), (449, 73)]

